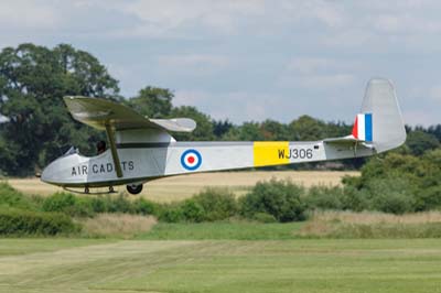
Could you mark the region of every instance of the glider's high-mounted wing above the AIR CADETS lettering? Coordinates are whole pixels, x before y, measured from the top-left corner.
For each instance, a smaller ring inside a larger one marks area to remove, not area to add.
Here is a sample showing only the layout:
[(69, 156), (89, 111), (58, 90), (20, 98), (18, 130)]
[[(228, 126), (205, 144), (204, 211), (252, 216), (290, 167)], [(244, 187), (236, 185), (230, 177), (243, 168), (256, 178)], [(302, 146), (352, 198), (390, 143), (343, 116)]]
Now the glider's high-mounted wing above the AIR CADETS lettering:
[(149, 119), (137, 111), (105, 99), (88, 97), (64, 97), (72, 117), (90, 127), (105, 130), (106, 124), (115, 130), (159, 129), (165, 131), (191, 132), (196, 122), (189, 118)]

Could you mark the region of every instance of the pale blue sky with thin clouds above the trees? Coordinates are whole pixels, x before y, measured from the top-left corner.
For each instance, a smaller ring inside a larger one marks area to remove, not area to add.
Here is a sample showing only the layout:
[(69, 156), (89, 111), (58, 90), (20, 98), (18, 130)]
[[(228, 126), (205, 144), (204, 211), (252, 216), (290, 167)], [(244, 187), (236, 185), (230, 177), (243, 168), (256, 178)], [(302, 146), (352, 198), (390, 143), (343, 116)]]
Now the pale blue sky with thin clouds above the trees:
[(372, 77), (394, 82), (405, 122), (441, 123), (441, 1), (1, 1), (0, 48), (68, 43), (121, 95), (171, 89), (235, 123), (301, 115), (352, 122)]

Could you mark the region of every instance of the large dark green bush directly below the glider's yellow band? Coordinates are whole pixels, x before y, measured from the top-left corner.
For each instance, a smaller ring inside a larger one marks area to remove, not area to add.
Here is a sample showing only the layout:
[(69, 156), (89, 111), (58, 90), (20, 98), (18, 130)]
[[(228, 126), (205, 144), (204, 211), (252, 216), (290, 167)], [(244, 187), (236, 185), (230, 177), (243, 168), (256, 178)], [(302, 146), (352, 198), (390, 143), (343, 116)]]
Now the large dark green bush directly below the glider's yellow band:
[(278, 221), (304, 220), (304, 188), (289, 181), (258, 182), (250, 193), (240, 198), (243, 216), (254, 218), (256, 213), (272, 215)]

